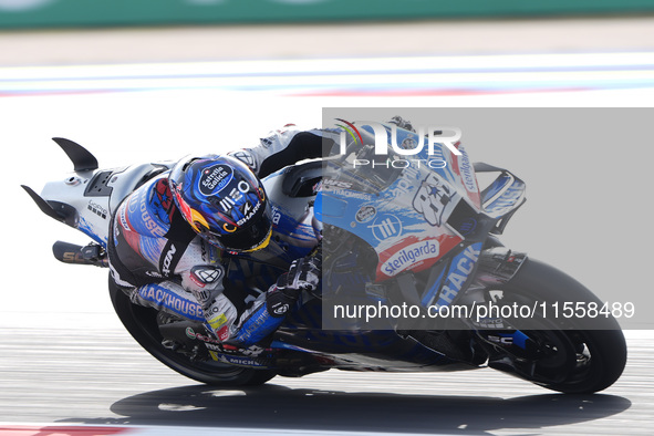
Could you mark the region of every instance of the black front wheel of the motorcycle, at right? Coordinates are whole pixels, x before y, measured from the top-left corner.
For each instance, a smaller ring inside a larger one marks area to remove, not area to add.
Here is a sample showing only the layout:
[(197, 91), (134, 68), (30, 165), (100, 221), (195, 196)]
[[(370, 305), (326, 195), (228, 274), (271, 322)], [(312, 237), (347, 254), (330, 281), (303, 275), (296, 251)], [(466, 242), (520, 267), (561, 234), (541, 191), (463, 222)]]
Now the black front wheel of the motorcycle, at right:
[[(584, 286), (562, 271), (537, 260), (528, 259), (502, 288), (508, 302), (602, 302)], [(551, 312), (551, 311), (550, 311)], [(568, 394), (589, 394), (611, 386), (626, 364), (626, 343), (617, 321), (602, 316), (588, 323), (575, 318), (536, 318), (523, 333), (537, 346), (537, 357), (525, 359), (513, 353), (501, 355), (496, 347), (495, 367), (530, 380), (549, 390)], [(491, 363), (489, 362), (490, 366)], [(515, 371), (516, 368), (527, 371)]]

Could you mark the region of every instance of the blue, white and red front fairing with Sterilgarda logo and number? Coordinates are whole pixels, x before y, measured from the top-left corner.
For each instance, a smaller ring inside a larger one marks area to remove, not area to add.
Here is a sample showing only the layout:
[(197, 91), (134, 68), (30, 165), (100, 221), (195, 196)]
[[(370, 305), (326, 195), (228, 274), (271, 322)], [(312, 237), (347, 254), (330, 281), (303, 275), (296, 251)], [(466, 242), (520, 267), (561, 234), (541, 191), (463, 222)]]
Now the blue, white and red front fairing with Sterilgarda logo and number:
[[(395, 131), (398, 144), (415, 144), (415, 133), (385, 127), (388, 142)], [(372, 127), (363, 124), (360, 132), (364, 144), (374, 144)], [(457, 146), (460, 155), (443, 144), (435, 144), (432, 155), (425, 146), (415, 155), (393, 156), (390, 147), (386, 167), (374, 163), (378, 168), (373, 166), (367, 174), (350, 165), (347, 157), (328, 160), (325, 179), (333, 181), (322, 183), (318, 214), (324, 224), (346, 229), (374, 248), (380, 261), (376, 281), (426, 270), (464, 240), (482, 241), (523, 203), (525, 184), (519, 178), (486, 164), (471, 165), (465, 148)], [(402, 163), (399, 169), (390, 159), (399, 159), (393, 160)], [(446, 165), (426, 164), (434, 160)], [(480, 193), (476, 170), (500, 170), (501, 175)]]

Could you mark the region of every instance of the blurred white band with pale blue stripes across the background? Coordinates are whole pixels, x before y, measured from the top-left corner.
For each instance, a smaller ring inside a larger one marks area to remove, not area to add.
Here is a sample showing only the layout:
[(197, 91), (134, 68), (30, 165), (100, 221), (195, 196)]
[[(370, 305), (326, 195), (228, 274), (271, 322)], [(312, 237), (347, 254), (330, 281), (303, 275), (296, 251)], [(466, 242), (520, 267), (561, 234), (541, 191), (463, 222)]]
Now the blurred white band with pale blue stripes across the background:
[(212, 89), (531, 92), (654, 87), (654, 53), (271, 60), (0, 69), (0, 93)]

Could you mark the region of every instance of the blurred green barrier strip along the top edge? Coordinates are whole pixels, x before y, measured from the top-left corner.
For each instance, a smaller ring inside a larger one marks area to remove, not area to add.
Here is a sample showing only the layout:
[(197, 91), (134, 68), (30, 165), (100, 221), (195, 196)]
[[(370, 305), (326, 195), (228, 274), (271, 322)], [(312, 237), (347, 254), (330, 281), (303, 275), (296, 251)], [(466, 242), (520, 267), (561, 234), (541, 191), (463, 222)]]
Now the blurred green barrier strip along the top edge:
[(654, 12), (654, 0), (0, 0), (0, 29)]

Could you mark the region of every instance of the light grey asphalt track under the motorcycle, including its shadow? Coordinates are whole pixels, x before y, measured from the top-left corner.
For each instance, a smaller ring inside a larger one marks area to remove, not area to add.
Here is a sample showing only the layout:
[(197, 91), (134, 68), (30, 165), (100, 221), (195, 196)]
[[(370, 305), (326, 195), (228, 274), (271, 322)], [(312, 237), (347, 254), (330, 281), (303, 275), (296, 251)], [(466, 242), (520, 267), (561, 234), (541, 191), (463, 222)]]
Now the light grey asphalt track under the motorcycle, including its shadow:
[(1, 329), (0, 423), (651, 435), (651, 339), (629, 341), (626, 371), (612, 387), (567, 396), (488, 368), (440, 374), (330, 371), (220, 390), (172, 372), (120, 329)]

